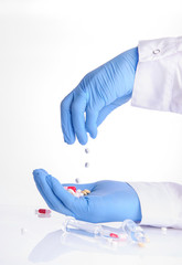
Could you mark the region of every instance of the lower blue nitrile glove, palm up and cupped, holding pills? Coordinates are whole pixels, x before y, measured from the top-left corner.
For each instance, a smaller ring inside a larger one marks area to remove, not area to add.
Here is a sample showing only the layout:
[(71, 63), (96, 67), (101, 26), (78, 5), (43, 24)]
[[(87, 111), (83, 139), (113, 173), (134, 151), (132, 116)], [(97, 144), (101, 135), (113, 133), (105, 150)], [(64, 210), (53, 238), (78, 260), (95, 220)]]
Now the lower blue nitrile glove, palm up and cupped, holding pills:
[[(33, 176), (45, 202), (56, 212), (92, 223), (119, 222), (126, 219), (141, 221), (139, 198), (126, 182), (104, 180), (89, 184), (62, 186), (43, 169), (34, 170)], [(64, 186), (88, 189), (90, 194), (76, 198)]]

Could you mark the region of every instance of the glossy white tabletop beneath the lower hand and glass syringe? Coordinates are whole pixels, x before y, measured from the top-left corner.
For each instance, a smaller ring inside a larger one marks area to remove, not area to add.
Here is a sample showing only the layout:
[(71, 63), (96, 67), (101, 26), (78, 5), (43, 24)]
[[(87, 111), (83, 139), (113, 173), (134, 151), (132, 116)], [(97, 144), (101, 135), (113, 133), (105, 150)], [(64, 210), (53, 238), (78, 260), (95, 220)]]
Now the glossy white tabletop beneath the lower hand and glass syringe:
[[(41, 208), (41, 205), (36, 206)], [(63, 233), (65, 216), (38, 218), (33, 206), (0, 205), (0, 264), (182, 264), (182, 231), (143, 227), (146, 247)], [(115, 225), (117, 225), (115, 223)]]

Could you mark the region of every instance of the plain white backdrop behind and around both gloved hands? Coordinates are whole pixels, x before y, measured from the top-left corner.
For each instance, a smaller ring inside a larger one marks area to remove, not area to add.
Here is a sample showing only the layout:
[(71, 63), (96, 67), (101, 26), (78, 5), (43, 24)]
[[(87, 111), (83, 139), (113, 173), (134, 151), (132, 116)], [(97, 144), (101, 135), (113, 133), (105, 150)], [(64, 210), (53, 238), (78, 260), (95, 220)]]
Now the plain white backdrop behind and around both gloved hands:
[(0, 203), (43, 204), (35, 168), (61, 182), (181, 181), (181, 115), (128, 103), (89, 139), (88, 155), (64, 142), (60, 123), (61, 100), (87, 72), (139, 40), (178, 35), (180, 0), (1, 0)]

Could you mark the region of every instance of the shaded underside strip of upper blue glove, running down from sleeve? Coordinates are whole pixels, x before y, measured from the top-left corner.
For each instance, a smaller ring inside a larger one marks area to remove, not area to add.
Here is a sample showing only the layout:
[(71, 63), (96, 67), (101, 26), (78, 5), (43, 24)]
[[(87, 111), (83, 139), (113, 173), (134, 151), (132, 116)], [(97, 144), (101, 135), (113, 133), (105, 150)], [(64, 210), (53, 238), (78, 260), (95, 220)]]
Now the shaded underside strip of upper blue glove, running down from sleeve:
[(103, 107), (98, 114), (97, 118), (97, 126), (99, 126), (105, 118), (117, 107), (127, 103), (130, 99), (131, 95), (126, 95), (124, 97), (117, 98), (115, 102), (110, 103), (109, 105)]

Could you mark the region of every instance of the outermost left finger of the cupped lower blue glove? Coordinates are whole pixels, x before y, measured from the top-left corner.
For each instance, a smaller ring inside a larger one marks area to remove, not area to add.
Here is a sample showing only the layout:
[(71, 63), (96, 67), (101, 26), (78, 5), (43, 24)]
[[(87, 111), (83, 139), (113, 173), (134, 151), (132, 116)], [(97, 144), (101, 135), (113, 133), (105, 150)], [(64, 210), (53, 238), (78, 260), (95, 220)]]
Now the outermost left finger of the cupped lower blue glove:
[(54, 211), (73, 216), (73, 213), (64, 206), (64, 204), (56, 198), (56, 195), (52, 191), (47, 172), (42, 169), (36, 169), (33, 171), (33, 177), (36, 187), (47, 205)]

